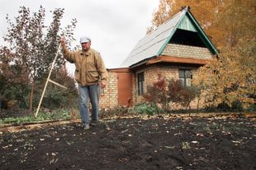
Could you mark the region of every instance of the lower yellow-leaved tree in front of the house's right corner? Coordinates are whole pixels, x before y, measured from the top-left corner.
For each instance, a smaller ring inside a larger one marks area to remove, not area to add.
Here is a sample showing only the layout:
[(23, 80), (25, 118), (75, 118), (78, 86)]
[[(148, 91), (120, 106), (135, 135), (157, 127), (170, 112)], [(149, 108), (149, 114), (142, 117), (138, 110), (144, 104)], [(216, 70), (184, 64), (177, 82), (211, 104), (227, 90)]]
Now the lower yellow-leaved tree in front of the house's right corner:
[(247, 107), (256, 99), (256, 40), (239, 43), (237, 49), (226, 49), (200, 68), (204, 98), (209, 106), (241, 102)]

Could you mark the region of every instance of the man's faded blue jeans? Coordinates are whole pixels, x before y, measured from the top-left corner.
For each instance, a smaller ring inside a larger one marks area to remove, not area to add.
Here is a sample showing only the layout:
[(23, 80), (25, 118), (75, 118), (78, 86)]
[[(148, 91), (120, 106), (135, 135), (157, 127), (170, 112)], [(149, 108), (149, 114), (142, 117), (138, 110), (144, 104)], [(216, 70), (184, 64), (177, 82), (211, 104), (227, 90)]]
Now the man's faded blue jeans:
[(100, 89), (99, 85), (89, 85), (89, 86), (78, 86), (79, 90), (79, 106), (80, 106), (80, 115), (82, 119), (82, 124), (89, 124), (89, 109), (88, 109), (88, 97), (92, 104), (92, 121), (98, 120), (99, 115), (99, 96)]

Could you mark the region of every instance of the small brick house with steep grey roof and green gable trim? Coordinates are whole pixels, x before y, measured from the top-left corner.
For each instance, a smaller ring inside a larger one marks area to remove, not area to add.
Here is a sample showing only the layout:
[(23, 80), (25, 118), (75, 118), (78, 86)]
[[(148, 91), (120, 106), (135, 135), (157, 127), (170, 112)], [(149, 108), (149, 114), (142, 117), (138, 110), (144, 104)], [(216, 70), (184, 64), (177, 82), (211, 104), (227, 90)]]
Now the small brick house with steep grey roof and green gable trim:
[(146, 87), (157, 81), (159, 73), (190, 86), (192, 78), (197, 78), (197, 69), (215, 54), (216, 47), (185, 7), (145, 35), (121, 68), (107, 69), (109, 81), (100, 105), (107, 108), (143, 102)]

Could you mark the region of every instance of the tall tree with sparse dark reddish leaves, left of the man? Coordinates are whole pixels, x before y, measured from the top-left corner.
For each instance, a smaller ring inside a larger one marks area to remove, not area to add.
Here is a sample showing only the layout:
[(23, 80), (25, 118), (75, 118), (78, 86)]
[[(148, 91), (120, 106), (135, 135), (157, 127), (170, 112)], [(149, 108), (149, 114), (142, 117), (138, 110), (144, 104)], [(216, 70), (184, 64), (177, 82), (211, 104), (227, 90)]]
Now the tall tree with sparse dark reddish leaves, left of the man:
[[(50, 64), (53, 61), (59, 45), (59, 36), (65, 32), (70, 43), (73, 40), (73, 29), (76, 20), (73, 19), (69, 26), (61, 28), (60, 21), (64, 16), (64, 9), (57, 8), (53, 14), (50, 26), (45, 26), (45, 8), (40, 7), (38, 12), (30, 12), (28, 7), (21, 7), (15, 21), (7, 15), (7, 35), (4, 40), (9, 43), (8, 49), (12, 51), (16, 64), (25, 68), (28, 88), (31, 89), (29, 108), (32, 111), (33, 94), (36, 81), (42, 82), (45, 75), (49, 73)], [(59, 59), (55, 68), (63, 67), (64, 60)]]

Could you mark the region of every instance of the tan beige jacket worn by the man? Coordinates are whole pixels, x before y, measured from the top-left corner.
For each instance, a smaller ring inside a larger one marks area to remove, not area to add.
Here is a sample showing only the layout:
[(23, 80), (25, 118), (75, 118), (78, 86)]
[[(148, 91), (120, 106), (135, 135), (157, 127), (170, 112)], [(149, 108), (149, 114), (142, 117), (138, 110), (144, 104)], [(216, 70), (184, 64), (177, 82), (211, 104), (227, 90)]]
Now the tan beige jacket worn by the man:
[(107, 69), (102, 60), (101, 54), (90, 49), (88, 52), (77, 50), (70, 52), (66, 48), (63, 50), (64, 58), (75, 64), (74, 78), (82, 85), (97, 84), (100, 80), (107, 81)]

